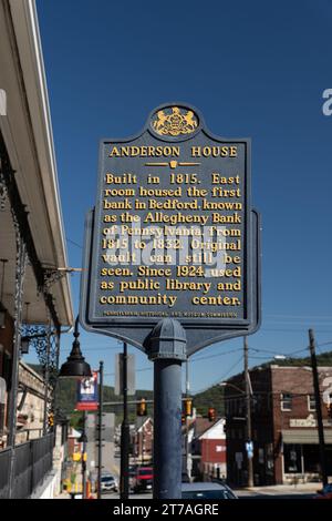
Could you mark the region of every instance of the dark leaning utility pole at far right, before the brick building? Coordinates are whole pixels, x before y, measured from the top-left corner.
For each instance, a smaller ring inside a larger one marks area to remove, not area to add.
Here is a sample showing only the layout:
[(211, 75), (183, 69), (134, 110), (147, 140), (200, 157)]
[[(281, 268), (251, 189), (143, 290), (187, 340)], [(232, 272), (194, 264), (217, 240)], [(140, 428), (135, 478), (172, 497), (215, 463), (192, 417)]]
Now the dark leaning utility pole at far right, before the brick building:
[(313, 379), (313, 389), (314, 389), (314, 400), (315, 400), (315, 411), (317, 411), (317, 426), (319, 433), (319, 443), (320, 443), (320, 463), (321, 463), (321, 474), (323, 487), (328, 484), (328, 472), (326, 472), (326, 461), (325, 461), (325, 441), (324, 441), (324, 427), (323, 427), (323, 417), (322, 417), (322, 406), (321, 406), (321, 394), (320, 394), (320, 382), (317, 368), (317, 358), (315, 358), (315, 343), (313, 329), (309, 329), (309, 349), (311, 356), (311, 367), (312, 367), (312, 379)]

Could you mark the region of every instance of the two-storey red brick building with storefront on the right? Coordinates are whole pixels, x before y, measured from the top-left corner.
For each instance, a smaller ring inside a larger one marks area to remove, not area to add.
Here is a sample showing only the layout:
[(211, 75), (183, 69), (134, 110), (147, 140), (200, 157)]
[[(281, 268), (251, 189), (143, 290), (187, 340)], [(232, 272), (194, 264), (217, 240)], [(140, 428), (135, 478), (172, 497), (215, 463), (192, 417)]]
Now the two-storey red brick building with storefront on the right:
[[(319, 367), (328, 473), (332, 477), (332, 367)], [(251, 423), (255, 484), (279, 484), (319, 479), (320, 454), (311, 367), (256, 368)], [(243, 374), (225, 388), (227, 476), (247, 483), (246, 395)]]

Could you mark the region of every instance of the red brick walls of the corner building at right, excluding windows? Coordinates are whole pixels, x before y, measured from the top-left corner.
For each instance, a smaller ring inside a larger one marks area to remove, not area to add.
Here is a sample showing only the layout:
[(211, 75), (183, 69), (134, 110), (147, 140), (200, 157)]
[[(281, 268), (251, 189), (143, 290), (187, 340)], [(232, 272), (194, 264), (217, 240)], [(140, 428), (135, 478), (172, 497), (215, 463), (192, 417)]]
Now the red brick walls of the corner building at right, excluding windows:
[[(326, 389), (322, 386), (322, 381), (328, 376), (332, 376), (332, 367), (319, 368), (320, 375), (320, 389), (321, 395)], [(313, 395), (312, 371), (310, 368), (304, 367), (271, 367), (267, 369), (257, 369), (250, 371), (250, 379), (252, 384), (253, 395), (259, 399), (252, 406), (252, 437), (255, 446), (253, 457), (253, 471), (255, 474), (261, 476), (262, 481), (268, 481), (268, 484), (282, 482), (282, 447), (281, 447), (281, 431), (292, 429), (290, 427), (290, 419), (305, 419), (309, 415), (315, 418), (315, 411), (309, 410), (308, 396)], [(230, 380), (240, 389), (243, 387), (243, 375), (236, 375)], [(292, 395), (292, 409), (291, 411), (281, 410), (280, 395), (282, 392)], [(226, 399), (232, 400), (237, 395), (240, 399), (240, 392), (237, 392), (230, 386), (225, 388)], [(322, 401), (323, 420), (328, 420), (328, 409)], [(234, 482), (240, 478), (240, 472), (237, 472), (235, 464), (236, 452), (243, 453), (243, 468), (246, 469), (246, 451), (245, 451), (245, 437), (246, 437), (246, 421), (237, 421), (234, 417), (246, 415), (246, 410), (230, 411), (227, 413), (227, 459), (228, 459), (228, 476)], [(329, 429), (332, 428), (328, 427)], [(305, 427), (305, 430), (310, 428)], [(317, 428), (313, 428), (314, 430)], [(242, 436), (239, 436), (242, 433)], [(274, 469), (267, 472), (266, 461), (260, 463), (259, 449), (264, 451), (267, 457), (269, 447), (272, 449)]]

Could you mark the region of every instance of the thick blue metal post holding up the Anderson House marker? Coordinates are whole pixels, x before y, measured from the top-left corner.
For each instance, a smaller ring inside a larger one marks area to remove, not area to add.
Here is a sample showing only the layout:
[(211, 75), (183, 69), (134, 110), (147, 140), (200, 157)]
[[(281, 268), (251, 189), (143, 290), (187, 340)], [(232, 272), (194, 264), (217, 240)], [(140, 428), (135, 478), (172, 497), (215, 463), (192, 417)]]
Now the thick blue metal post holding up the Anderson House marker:
[(181, 498), (181, 362), (186, 334), (173, 319), (160, 320), (149, 337), (154, 361), (154, 499)]

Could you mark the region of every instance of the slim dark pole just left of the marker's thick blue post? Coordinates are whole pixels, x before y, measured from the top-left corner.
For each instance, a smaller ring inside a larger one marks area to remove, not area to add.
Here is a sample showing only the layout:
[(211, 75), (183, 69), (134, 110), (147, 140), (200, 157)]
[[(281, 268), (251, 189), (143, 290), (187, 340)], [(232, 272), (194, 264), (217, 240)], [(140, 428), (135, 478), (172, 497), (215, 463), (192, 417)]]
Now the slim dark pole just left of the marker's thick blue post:
[(129, 496), (129, 423), (128, 423), (128, 385), (127, 385), (127, 344), (123, 344), (122, 364), (122, 394), (123, 394), (123, 422), (121, 426), (121, 477), (120, 499)]

